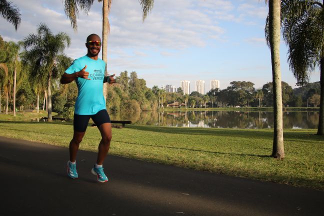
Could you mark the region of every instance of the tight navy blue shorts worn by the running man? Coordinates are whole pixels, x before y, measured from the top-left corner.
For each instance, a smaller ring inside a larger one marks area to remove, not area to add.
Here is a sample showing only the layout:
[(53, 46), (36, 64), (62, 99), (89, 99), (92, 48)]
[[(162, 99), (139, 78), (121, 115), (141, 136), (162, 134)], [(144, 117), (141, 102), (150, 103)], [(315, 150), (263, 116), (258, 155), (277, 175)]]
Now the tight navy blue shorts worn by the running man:
[(107, 110), (102, 109), (92, 115), (79, 115), (74, 113), (73, 118), (73, 129), (78, 132), (84, 132), (86, 130), (87, 124), (90, 118), (99, 127), (103, 123), (110, 123), (110, 117)]

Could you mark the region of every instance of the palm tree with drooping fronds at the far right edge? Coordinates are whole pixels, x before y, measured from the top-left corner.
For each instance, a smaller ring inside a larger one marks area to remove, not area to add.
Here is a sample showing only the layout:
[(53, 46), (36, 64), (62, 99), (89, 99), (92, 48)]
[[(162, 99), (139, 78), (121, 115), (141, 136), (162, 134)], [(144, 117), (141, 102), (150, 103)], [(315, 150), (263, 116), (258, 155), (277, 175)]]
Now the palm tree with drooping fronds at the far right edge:
[(288, 45), (288, 62), (297, 82), (308, 82), (316, 65), (320, 68), (320, 105), (317, 134), (324, 134), (324, 2), (282, 0), (282, 35)]

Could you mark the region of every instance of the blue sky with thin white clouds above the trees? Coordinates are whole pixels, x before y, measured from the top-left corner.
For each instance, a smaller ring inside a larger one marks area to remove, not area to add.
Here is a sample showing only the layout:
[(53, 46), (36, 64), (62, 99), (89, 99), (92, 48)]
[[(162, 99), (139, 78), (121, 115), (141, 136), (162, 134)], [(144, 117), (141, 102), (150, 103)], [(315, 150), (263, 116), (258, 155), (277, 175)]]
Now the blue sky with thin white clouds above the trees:
[[(23, 40), (43, 22), (54, 34), (69, 34), (71, 44), (65, 53), (75, 59), (86, 54), (87, 35), (102, 35), (102, 2), (97, 0), (88, 14), (79, 12), (77, 31), (64, 13), (62, 0), (9, 1), (19, 7), (21, 23), (15, 31), (0, 17), (5, 41)], [(112, 0), (107, 71), (116, 76), (124, 70), (136, 71), (147, 87), (179, 87), (181, 80), (189, 80), (194, 91), (195, 80), (204, 80), (207, 92), (209, 81), (218, 79), (220, 89), (231, 81), (251, 81), (261, 88), (272, 81), (270, 49), (264, 39), (267, 11), (264, 0), (154, 0), (142, 21), (138, 0)], [(286, 53), (281, 40), (281, 80), (295, 88)], [(319, 81), (318, 68), (309, 81)]]

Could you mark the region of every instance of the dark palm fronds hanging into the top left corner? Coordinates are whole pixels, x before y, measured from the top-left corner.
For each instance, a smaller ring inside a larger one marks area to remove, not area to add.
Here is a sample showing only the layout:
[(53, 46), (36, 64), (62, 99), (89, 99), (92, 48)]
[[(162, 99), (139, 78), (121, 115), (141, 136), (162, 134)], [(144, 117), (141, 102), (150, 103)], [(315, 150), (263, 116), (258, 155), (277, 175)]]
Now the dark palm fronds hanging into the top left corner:
[(17, 30), (21, 21), (21, 14), (19, 13), (19, 8), (16, 5), (11, 5), (10, 1), (0, 0), (0, 14), (8, 22), (12, 23), (15, 30)]

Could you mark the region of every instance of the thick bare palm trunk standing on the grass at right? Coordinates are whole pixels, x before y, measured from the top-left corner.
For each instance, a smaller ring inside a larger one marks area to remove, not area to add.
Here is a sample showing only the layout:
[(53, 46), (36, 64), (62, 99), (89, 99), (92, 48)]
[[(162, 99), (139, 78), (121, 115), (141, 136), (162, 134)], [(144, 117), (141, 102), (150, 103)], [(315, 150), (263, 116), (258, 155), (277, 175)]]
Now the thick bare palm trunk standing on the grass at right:
[(269, 40), (271, 50), (274, 134), (271, 156), (284, 158), (282, 129), (282, 95), (280, 72), (280, 0), (269, 0)]

